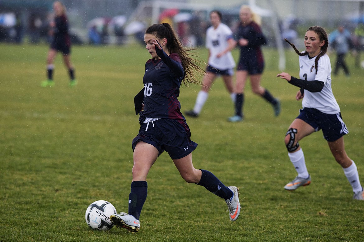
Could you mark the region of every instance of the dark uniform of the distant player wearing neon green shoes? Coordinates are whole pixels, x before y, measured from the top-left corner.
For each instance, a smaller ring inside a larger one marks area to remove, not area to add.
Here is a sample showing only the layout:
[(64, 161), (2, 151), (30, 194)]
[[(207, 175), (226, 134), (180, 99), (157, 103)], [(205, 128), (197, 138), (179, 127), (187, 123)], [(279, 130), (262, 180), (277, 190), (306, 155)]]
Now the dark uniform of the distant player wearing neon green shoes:
[(68, 55), (71, 52), (71, 40), (68, 33), (68, 20), (66, 15), (57, 16), (54, 19), (54, 35), (51, 48)]

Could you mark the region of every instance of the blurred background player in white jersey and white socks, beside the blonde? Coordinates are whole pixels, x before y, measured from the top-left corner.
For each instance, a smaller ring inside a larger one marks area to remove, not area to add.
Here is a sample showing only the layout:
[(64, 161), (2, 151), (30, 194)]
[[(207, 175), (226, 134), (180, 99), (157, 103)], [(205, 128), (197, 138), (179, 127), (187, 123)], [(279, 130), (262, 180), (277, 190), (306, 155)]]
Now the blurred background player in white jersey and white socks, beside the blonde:
[(206, 73), (203, 78), (201, 90), (197, 94), (193, 110), (186, 111), (185, 114), (191, 117), (197, 117), (205, 104), (211, 85), (215, 78), (222, 76), (227, 91), (235, 101), (233, 75), (235, 61), (231, 50), (235, 47), (236, 42), (233, 39), (233, 32), (226, 25), (221, 23), (222, 15), (219, 11), (210, 13), (212, 26), (206, 31), (206, 48), (209, 49), (209, 58), (206, 67)]

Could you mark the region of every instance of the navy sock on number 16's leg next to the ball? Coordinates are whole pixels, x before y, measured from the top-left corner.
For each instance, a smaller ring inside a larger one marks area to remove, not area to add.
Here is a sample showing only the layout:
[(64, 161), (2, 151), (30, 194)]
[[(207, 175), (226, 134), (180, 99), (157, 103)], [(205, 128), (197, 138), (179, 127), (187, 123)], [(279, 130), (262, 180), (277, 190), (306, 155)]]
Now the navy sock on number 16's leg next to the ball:
[(139, 220), (140, 213), (147, 199), (148, 184), (146, 181), (131, 182), (128, 214)]

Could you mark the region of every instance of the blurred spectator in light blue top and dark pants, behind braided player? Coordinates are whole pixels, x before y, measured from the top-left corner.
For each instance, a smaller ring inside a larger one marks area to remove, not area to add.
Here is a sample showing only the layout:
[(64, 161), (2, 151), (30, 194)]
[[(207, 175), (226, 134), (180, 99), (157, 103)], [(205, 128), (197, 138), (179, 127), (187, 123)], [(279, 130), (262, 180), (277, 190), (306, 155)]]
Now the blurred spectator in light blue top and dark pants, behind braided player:
[(340, 24), (329, 36), (329, 44), (336, 51), (336, 64), (333, 74), (336, 76), (341, 67), (343, 68), (345, 75), (350, 76), (348, 66), (345, 63), (345, 55), (353, 47), (350, 32)]

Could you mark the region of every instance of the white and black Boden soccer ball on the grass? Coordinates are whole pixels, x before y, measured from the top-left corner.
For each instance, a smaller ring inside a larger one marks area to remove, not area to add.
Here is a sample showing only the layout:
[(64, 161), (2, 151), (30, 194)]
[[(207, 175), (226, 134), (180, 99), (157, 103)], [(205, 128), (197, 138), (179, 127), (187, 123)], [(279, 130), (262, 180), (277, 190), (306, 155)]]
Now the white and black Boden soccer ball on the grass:
[(116, 209), (108, 201), (98, 200), (87, 207), (85, 219), (91, 229), (109, 230), (114, 224), (110, 220), (110, 215), (115, 214)]

